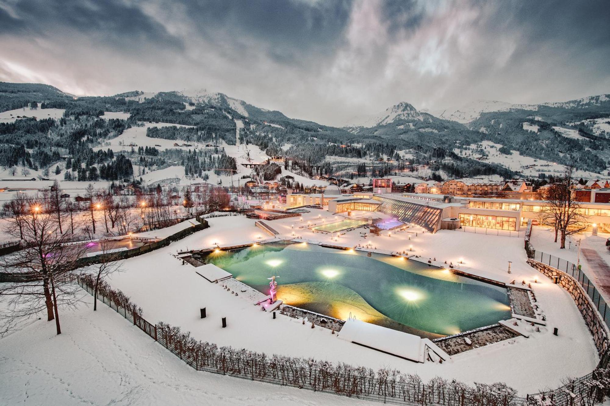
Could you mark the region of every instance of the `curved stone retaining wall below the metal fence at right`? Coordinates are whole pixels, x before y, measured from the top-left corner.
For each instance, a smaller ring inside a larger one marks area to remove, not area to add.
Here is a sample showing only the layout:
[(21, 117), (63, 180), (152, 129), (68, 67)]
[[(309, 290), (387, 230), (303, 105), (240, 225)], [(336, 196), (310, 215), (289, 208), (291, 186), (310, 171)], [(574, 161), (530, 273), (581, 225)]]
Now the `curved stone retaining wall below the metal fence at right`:
[(559, 271), (559, 269), (537, 262), (533, 259), (528, 259), (528, 264), (549, 277), (553, 282), (555, 277), (557, 277), (558, 285), (564, 288), (564, 290), (572, 296), (576, 307), (578, 307), (580, 314), (583, 316), (585, 324), (589, 327), (598, 353), (603, 354), (608, 347), (608, 329), (606, 328), (600, 313), (590, 302), (589, 296), (587, 296), (578, 281), (568, 274)]

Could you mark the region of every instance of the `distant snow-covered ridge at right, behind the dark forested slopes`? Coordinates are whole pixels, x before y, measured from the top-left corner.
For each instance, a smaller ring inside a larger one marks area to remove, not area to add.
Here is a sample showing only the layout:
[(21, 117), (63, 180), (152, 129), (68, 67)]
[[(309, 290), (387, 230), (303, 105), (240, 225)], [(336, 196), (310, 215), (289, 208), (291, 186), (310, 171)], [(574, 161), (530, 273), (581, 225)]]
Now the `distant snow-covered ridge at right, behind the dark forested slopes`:
[(458, 121), (458, 123), (470, 123), (481, 116), (481, 113), (487, 112), (506, 112), (514, 109), (533, 110), (537, 111), (540, 106), (556, 107), (559, 109), (584, 109), (595, 105), (606, 104), (610, 102), (610, 94), (600, 94), (598, 96), (587, 96), (581, 99), (570, 100), (566, 102), (544, 102), (540, 104), (512, 104), (503, 101), (493, 100), (477, 100), (470, 102), (464, 107), (461, 107), (454, 112), (445, 111), (440, 114), (439, 118)]

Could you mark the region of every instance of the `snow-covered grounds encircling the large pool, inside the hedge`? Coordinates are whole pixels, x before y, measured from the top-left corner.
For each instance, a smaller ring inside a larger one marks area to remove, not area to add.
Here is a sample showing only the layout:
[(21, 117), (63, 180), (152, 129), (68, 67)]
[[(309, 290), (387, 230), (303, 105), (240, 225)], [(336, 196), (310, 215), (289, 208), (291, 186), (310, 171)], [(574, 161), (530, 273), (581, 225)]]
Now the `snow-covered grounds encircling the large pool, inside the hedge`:
[[(318, 215), (321, 217), (318, 218)], [(304, 215), (304, 221), (334, 221), (328, 212), (312, 210)], [(583, 319), (569, 294), (542, 277), (525, 263), (525, 251), (521, 238), (486, 236), (458, 231), (440, 231), (435, 235), (418, 232), (393, 233), (392, 237), (367, 238), (362, 240), (358, 230), (348, 232), (335, 244), (354, 246), (371, 243), (380, 252), (408, 250), (413, 245), (413, 254), (423, 259), (436, 258), (438, 262), (457, 263), (468, 272), (493, 275), (506, 280), (508, 261), (512, 263), (512, 278), (534, 283), (539, 305), (547, 316), (547, 327), (541, 332), (531, 333), (530, 338), (518, 337), (501, 341), (475, 351), (455, 355), (442, 365), (436, 363), (414, 364), (400, 358), (337, 340), (326, 329), (310, 329), (296, 319), (260, 312), (243, 297), (235, 297), (220, 284), (212, 284), (195, 273), (190, 265), (172, 254), (184, 249), (201, 249), (215, 244), (229, 246), (256, 241), (261, 235), (254, 227), (254, 220), (239, 217), (209, 219), (210, 229), (197, 232), (184, 240), (150, 254), (124, 261), (126, 272), (116, 274), (110, 280), (113, 287), (125, 291), (134, 302), (144, 309), (149, 321), (165, 321), (183, 330), (188, 330), (200, 340), (218, 345), (248, 347), (267, 354), (301, 355), (333, 362), (368, 366), (373, 369), (390, 366), (401, 371), (417, 372), (424, 380), (434, 376), (455, 378), (464, 382), (503, 381), (514, 386), (520, 393), (534, 393), (545, 386), (559, 386), (562, 377), (583, 376), (597, 365), (597, 352)], [(286, 238), (303, 234), (303, 239), (331, 242), (328, 235), (293, 229), (294, 218), (269, 222)], [(298, 226), (298, 224), (296, 224)], [(267, 238), (267, 235), (262, 235)], [(409, 240), (411, 237), (411, 240)], [(442, 247), (442, 249), (439, 249)], [(476, 247), (473, 251), (472, 247)], [(163, 301), (159, 301), (163, 297)], [(200, 307), (207, 307), (209, 317), (201, 321)], [(220, 327), (220, 318), (226, 317), (226, 329)], [(559, 327), (559, 337), (552, 334)], [(579, 351), (573, 351), (578, 346)], [(516, 356), (515, 354), (519, 354)], [(557, 354), (562, 354), (558, 357)], [(502, 366), (502, 368), (498, 368)], [(523, 368), (531, 370), (523, 374)]]

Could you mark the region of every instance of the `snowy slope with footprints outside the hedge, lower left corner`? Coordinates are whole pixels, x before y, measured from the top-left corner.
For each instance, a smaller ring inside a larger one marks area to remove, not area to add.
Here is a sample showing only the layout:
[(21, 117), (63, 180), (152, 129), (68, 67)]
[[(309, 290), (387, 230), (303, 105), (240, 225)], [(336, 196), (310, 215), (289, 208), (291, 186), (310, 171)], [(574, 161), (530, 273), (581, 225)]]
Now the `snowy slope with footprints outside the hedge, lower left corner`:
[[(83, 292), (84, 293), (84, 292)], [(93, 298), (0, 339), (2, 405), (372, 405), (198, 372)]]

